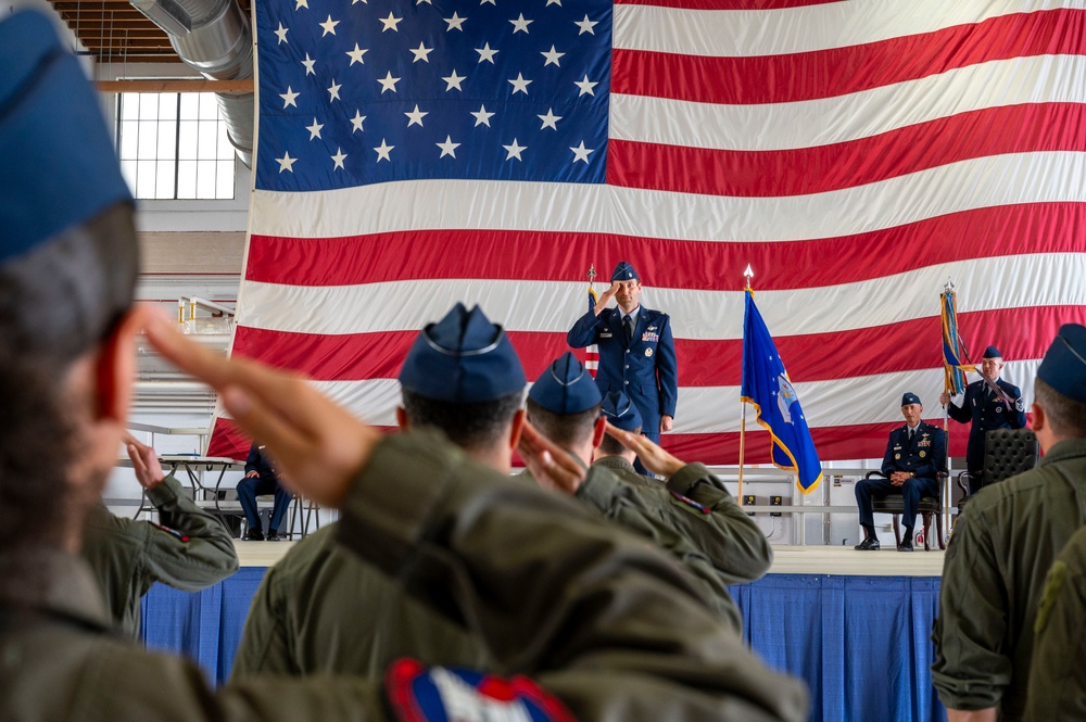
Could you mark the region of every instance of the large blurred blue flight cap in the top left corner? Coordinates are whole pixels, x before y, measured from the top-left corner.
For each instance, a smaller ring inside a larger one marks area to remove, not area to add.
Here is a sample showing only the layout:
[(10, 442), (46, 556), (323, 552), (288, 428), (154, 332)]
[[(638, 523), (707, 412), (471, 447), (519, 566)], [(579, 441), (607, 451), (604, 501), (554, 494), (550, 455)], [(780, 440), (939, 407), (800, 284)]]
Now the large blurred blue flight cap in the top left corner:
[(99, 102), (45, 14), (0, 22), (0, 263), (131, 200)]

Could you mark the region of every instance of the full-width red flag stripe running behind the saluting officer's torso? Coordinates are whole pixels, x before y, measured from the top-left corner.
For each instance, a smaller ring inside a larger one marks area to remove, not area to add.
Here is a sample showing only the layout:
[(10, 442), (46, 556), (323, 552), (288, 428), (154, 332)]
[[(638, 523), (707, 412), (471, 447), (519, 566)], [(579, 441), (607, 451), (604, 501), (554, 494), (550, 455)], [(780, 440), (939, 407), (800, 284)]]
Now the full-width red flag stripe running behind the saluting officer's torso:
[[(935, 301), (937, 302), (937, 296)], [(938, 308), (933, 308), (937, 313)], [(1040, 358), (1062, 324), (1086, 324), (1086, 306), (1038, 306), (959, 313), (965, 347), (974, 360), (998, 339), (1007, 359)], [(742, 319), (736, 319), (738, 324)], [(937, 315), (851, 331), (778, 335), (776, 349), (796, 381), (846, 379), (943, 365)], [(235, 353), (321, 381), (394, 379), (416, 331), (321, 335), (239, 327)], [(510, 331), (529, 380), (568, 350), (565, 333)], [(934, 340), (934, 341), (933, 341)], [(680, 387), (738, 385), (743, 342), (675, 339)]]

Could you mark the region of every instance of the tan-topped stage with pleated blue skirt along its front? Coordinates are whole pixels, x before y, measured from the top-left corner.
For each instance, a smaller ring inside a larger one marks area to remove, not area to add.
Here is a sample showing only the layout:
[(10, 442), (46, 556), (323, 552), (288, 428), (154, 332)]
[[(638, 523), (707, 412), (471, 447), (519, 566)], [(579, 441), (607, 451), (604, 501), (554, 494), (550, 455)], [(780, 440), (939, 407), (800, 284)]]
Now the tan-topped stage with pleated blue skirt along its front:
[[(148, 646), (227, 679), (253, 594), (293, 544), (237, 542), (241, 570), (199, 594), (155, 585), (143, 600)], [(899, 553), (893, 536), (880, 552), (778, 546), (769, 574), (731, 591), (750, 647), (807, 682), (813, 722), (942, 722), (929, 668), (943, 557)]]

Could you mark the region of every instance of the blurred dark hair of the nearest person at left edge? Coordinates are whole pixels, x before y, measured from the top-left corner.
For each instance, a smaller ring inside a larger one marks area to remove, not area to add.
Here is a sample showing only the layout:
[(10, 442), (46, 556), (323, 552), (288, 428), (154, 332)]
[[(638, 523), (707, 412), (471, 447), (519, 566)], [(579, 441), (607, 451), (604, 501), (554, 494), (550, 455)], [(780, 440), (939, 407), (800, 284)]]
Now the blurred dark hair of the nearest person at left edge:
[(0, 584), (39, 583), (25, 555), (81, 522), (89, 501), (68, 484), (80, 402), (63, 378), (131, 306), (138, 268), (128, 203), (0, 263)]

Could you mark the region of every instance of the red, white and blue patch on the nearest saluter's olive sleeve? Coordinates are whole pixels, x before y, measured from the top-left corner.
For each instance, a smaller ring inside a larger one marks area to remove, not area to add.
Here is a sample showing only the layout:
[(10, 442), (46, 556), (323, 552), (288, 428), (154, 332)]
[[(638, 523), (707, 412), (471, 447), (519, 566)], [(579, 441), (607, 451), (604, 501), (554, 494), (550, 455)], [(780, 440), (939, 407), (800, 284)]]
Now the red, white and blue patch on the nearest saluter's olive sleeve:
[(574, 722), (561, 701), (523, 676), (505, 679), (399, 659), (384, 682), (400, 722)]

